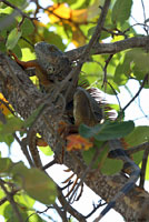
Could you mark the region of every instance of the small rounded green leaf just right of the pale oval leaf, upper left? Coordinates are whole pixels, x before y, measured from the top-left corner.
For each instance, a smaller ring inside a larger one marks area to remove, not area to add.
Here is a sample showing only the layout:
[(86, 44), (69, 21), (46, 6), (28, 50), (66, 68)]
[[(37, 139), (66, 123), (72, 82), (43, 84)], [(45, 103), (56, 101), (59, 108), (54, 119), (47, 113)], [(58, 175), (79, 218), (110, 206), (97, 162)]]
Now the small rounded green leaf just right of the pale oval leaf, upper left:
[(24, 19), (22, 26), (21, 26), (21, 31), (22, 31), (22, 36), (29, 36), (33, 32), (34, 30), (34, 26), (31, 22), (31, 20), (29, 19)]

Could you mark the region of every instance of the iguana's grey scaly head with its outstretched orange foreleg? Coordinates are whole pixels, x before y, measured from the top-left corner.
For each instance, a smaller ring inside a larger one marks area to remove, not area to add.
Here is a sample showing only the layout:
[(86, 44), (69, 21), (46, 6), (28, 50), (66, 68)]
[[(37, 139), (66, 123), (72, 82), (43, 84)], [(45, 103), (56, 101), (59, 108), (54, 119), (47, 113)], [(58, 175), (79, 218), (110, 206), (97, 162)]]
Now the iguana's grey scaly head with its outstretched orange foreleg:
[(71, 71), (69, 59), (56, 46), (38, 42), (34, 44), (34, 52), (37, 60), (27, 62), (20, 61), (14, 53), (9, 53), (23, 69), (36, 68), (36, 75), (44, 88), (63, 80)]

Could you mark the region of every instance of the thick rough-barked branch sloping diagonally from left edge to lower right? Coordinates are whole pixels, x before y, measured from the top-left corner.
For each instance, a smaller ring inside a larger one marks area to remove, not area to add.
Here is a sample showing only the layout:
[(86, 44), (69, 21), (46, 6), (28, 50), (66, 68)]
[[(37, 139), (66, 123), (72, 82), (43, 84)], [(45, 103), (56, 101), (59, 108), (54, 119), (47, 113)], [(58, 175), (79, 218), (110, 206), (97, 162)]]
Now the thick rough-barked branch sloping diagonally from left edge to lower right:
[[(43, 100), (43, 94), (37, 90), (24, 71), (14, 61), (2, 53), (0, 53), (0, 90), (23, 119), (27, 119)], [(62, 142), (63, 140), (59, 140), (56, 128), (59, 123), (58, 120), (67, 120), (67, 117), (60, 115), (61, 119), (58, 118), (60, 111), (59, 107), (56, 107), (49, 101), (49, 107), (44, 112), (47, 119), (41, 117), (36, 125), (37, 131), (40, 132), (53, 151), (57, 151), (57, 155), (59, 157), (59, 159), (57, 159), (58, 162), (59, 160), (61, 161), (61, 152), (64, 144)], [(54, 133), (48, 128), (48, 124), (53, 127)], [(83, 174), (87, 165), (80, 152), (74, 152), (74, 154), (78, 161), (73, 159), (71, 152), (66, 152), (63, 163), (80, 176)], [(85, 182), (92, 191), (109, 202), (127, 180), (128, 179), (120, 173), (107, 176), (102, 175), (98, 170), (90, 170)], [(121, 213), (126, 220), (136, 221), (138, 214), (143, 215), (143, 213), (141, 213), (143, 212), (142, 202), (147, 203), (145, 209), (149, 206), (149, 194), (135, 186), (131, 192), (116, 204), (115, 209)]]

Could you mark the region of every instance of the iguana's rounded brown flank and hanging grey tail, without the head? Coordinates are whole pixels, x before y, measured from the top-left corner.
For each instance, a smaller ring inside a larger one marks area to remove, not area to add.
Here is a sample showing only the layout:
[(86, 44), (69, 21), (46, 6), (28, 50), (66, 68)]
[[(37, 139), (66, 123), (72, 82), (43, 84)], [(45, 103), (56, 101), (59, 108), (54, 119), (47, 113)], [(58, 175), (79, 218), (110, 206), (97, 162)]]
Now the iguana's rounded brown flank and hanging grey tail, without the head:
[[(73, 97), (73, 118), (74, 123), (79, 125), (80, 123), (85, 123), (87, 125), (95, 125), (99, 123), (102, 119), (102, 112), (99, 107), (99, 104), (91, 98), (91, 95), (83, 89), (78, 88), (74, 97)], [(108, 203), (108, 205), (101, 211), (100, 216), (97, 219), (99, 221), (108, 211), (115, 206), (116, 202), (125, 196), (135, 185), (137, 182), (140, 169), (132, 160), (129, 159), (129, 157), (126, 155), (121, 141), (110, 140), (109, 141), (109, 148), (111, 155), (113, 154), (113, 158), (117, 158), (119, 160), (123, 161), (125, 170), (127, 171), (129, 169), (130, 172), (130, 179), (121, 190), (115, 195), (115, 198)]]

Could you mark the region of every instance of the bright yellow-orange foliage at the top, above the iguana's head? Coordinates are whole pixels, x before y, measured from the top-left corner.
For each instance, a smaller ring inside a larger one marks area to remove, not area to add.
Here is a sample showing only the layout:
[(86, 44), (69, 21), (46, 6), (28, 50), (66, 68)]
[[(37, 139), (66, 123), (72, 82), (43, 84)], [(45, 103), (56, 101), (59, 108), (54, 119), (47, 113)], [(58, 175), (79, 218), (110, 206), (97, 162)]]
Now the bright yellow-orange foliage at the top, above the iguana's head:
[(72, 43), (76, 47), (86, 44), (86, 37), (80, 30), (80, 24), (87, 24), (92, 18), (99, 14), (99, 0), (87, 9), (72, 10), (67, 3), (54, 3), (46, 11), (51, 23), (60, 26), (68, 24), (72, 30)]

